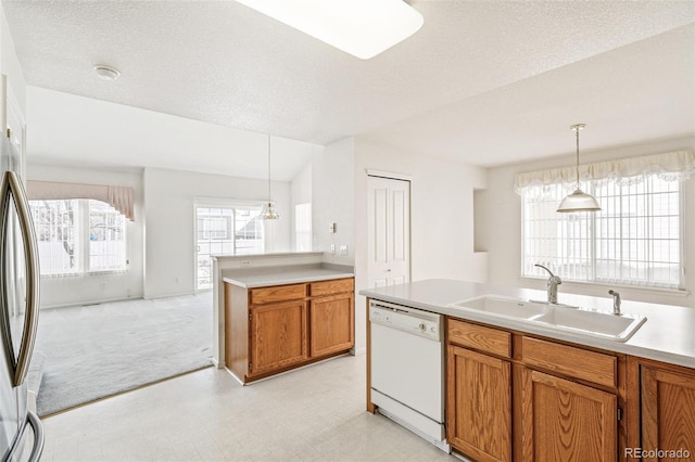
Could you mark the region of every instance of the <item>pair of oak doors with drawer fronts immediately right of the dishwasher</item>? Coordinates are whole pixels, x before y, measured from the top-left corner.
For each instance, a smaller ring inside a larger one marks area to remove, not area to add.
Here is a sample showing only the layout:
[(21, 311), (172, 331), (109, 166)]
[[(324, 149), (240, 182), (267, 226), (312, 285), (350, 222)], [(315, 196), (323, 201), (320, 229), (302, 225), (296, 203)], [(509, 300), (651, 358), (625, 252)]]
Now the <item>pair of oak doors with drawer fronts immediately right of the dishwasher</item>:
[(477, 461), (618, 459), (624, 356), (451, 318), (446, 332), (455, 450)]

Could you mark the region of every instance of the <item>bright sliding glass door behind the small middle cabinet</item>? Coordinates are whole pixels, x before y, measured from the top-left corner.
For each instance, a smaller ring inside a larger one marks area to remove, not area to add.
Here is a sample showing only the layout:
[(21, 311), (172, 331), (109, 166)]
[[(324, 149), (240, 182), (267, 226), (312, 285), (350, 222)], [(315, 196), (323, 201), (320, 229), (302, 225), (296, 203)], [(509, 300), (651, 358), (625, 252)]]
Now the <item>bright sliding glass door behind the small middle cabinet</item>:
[(195, 207), (195, 287), (211, 288), (212, 255), (262, 254), (261, 206)]

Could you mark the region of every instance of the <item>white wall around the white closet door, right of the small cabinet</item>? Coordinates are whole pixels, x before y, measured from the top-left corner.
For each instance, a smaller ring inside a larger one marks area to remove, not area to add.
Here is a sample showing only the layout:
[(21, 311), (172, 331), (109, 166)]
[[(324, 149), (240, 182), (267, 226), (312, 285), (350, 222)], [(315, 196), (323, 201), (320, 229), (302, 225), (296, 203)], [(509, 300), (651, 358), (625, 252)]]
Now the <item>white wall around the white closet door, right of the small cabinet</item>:
[[(403, 152), (366, 137), (355, 146), (356, 286), (367, 286), (367, 169), (412, 177), (412, 280), (431, 278), (485, 282), (484, 253), (473, 252), (473, 189), (484, 189), (485, 169)], [(355, 298), (356, 349), (365, 348), (365, 297)]]

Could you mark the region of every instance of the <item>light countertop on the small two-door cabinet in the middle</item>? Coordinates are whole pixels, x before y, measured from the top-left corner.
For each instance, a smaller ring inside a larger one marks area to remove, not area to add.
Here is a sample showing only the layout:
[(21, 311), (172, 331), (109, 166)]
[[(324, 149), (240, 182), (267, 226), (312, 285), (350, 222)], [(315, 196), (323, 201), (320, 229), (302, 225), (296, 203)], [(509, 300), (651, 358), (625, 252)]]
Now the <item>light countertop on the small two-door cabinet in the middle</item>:
[(342, 265), (291, 265), (224, 270), (223, 281), (244, 288), (352, 278), (353, 268)]

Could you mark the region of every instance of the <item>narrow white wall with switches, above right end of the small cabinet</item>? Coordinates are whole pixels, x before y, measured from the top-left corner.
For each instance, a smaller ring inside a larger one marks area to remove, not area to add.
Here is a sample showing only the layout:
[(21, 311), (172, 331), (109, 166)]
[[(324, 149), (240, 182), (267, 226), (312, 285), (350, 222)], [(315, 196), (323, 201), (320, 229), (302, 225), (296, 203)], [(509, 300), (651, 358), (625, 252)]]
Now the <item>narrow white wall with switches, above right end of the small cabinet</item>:
[[(354, 140), (345, 138), (325, 146), (312, 158), (313, 251), (325, 252), (326, 261), (354, 265), (355, 261), (355, 182)], [(336, 232), (328, 227), (336, 223)], [(330, 254), (330, 245), (336, 254)], [(348, 246), (348, 255), (340, 246)]]

